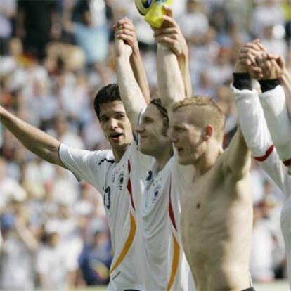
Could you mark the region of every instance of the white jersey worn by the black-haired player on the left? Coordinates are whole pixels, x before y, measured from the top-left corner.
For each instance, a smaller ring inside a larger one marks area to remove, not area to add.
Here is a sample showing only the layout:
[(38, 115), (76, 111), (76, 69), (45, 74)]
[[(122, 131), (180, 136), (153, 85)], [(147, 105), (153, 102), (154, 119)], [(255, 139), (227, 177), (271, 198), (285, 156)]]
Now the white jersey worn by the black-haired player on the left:
[(64, 144), (60, 160), (103, 195), (113, 250), (108, 290), (145, 290), (138, 212), (152, 158), (138, 152), (133, 142), (118, 163), (112, 150), (77, 150)]

